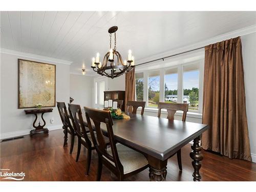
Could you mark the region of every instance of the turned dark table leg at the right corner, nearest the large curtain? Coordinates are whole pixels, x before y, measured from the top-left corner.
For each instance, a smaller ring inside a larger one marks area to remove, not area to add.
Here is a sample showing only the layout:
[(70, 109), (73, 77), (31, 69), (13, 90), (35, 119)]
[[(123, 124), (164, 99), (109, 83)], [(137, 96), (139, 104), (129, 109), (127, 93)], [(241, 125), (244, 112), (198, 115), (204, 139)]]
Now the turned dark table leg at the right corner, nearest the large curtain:
[(201, 168), (201, 162), (203, 160), (203, 155), (201, 154), (201, 146), (199, 145), (199, 141), (200, 141), (200, 136), (198, 136), (197, 138), (195, 138), (193, 140), (193, 145), (191, 146), (191, 149), (193, 151), (190, 152), (190, 157), (191, 159), (193, 159), (192, 161), (192, 165), (194, 167), (194, 173), (193, 173), (193, 177), (194, 177), (194, 181), (200, 181), (201, 179), (201, 175), (199, 173), (199, 169)]

